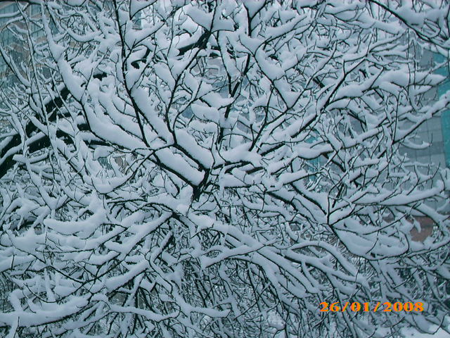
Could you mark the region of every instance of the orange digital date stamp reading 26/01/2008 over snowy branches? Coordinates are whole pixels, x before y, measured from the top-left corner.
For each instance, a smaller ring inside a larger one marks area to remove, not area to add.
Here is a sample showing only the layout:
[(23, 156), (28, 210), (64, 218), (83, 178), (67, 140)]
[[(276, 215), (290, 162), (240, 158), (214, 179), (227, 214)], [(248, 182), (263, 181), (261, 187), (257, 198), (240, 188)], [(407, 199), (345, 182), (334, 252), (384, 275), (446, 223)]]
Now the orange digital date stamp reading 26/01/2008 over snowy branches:
[(406, 303), (401, 303), (397, 301), (395, 303), (391, 303), (390, 301), (385, 301), (384, 303), (377, 301), (376, 303), (359, 303), (358, 301), (354, 301), (350, 303), (346, 301), (345, 303), (340, 304), (340, 302), (336, 301), (335, 303), (327, 303), (323, 301), (319, 304), (321, 306), (320, 312), (345, 312), (345, 311), (353, 311), (353, 312), (422, 312), (423, 311), (423, 303), (421, 301), (416, 301), (413, 303), (411, 301), (406, 301)]

